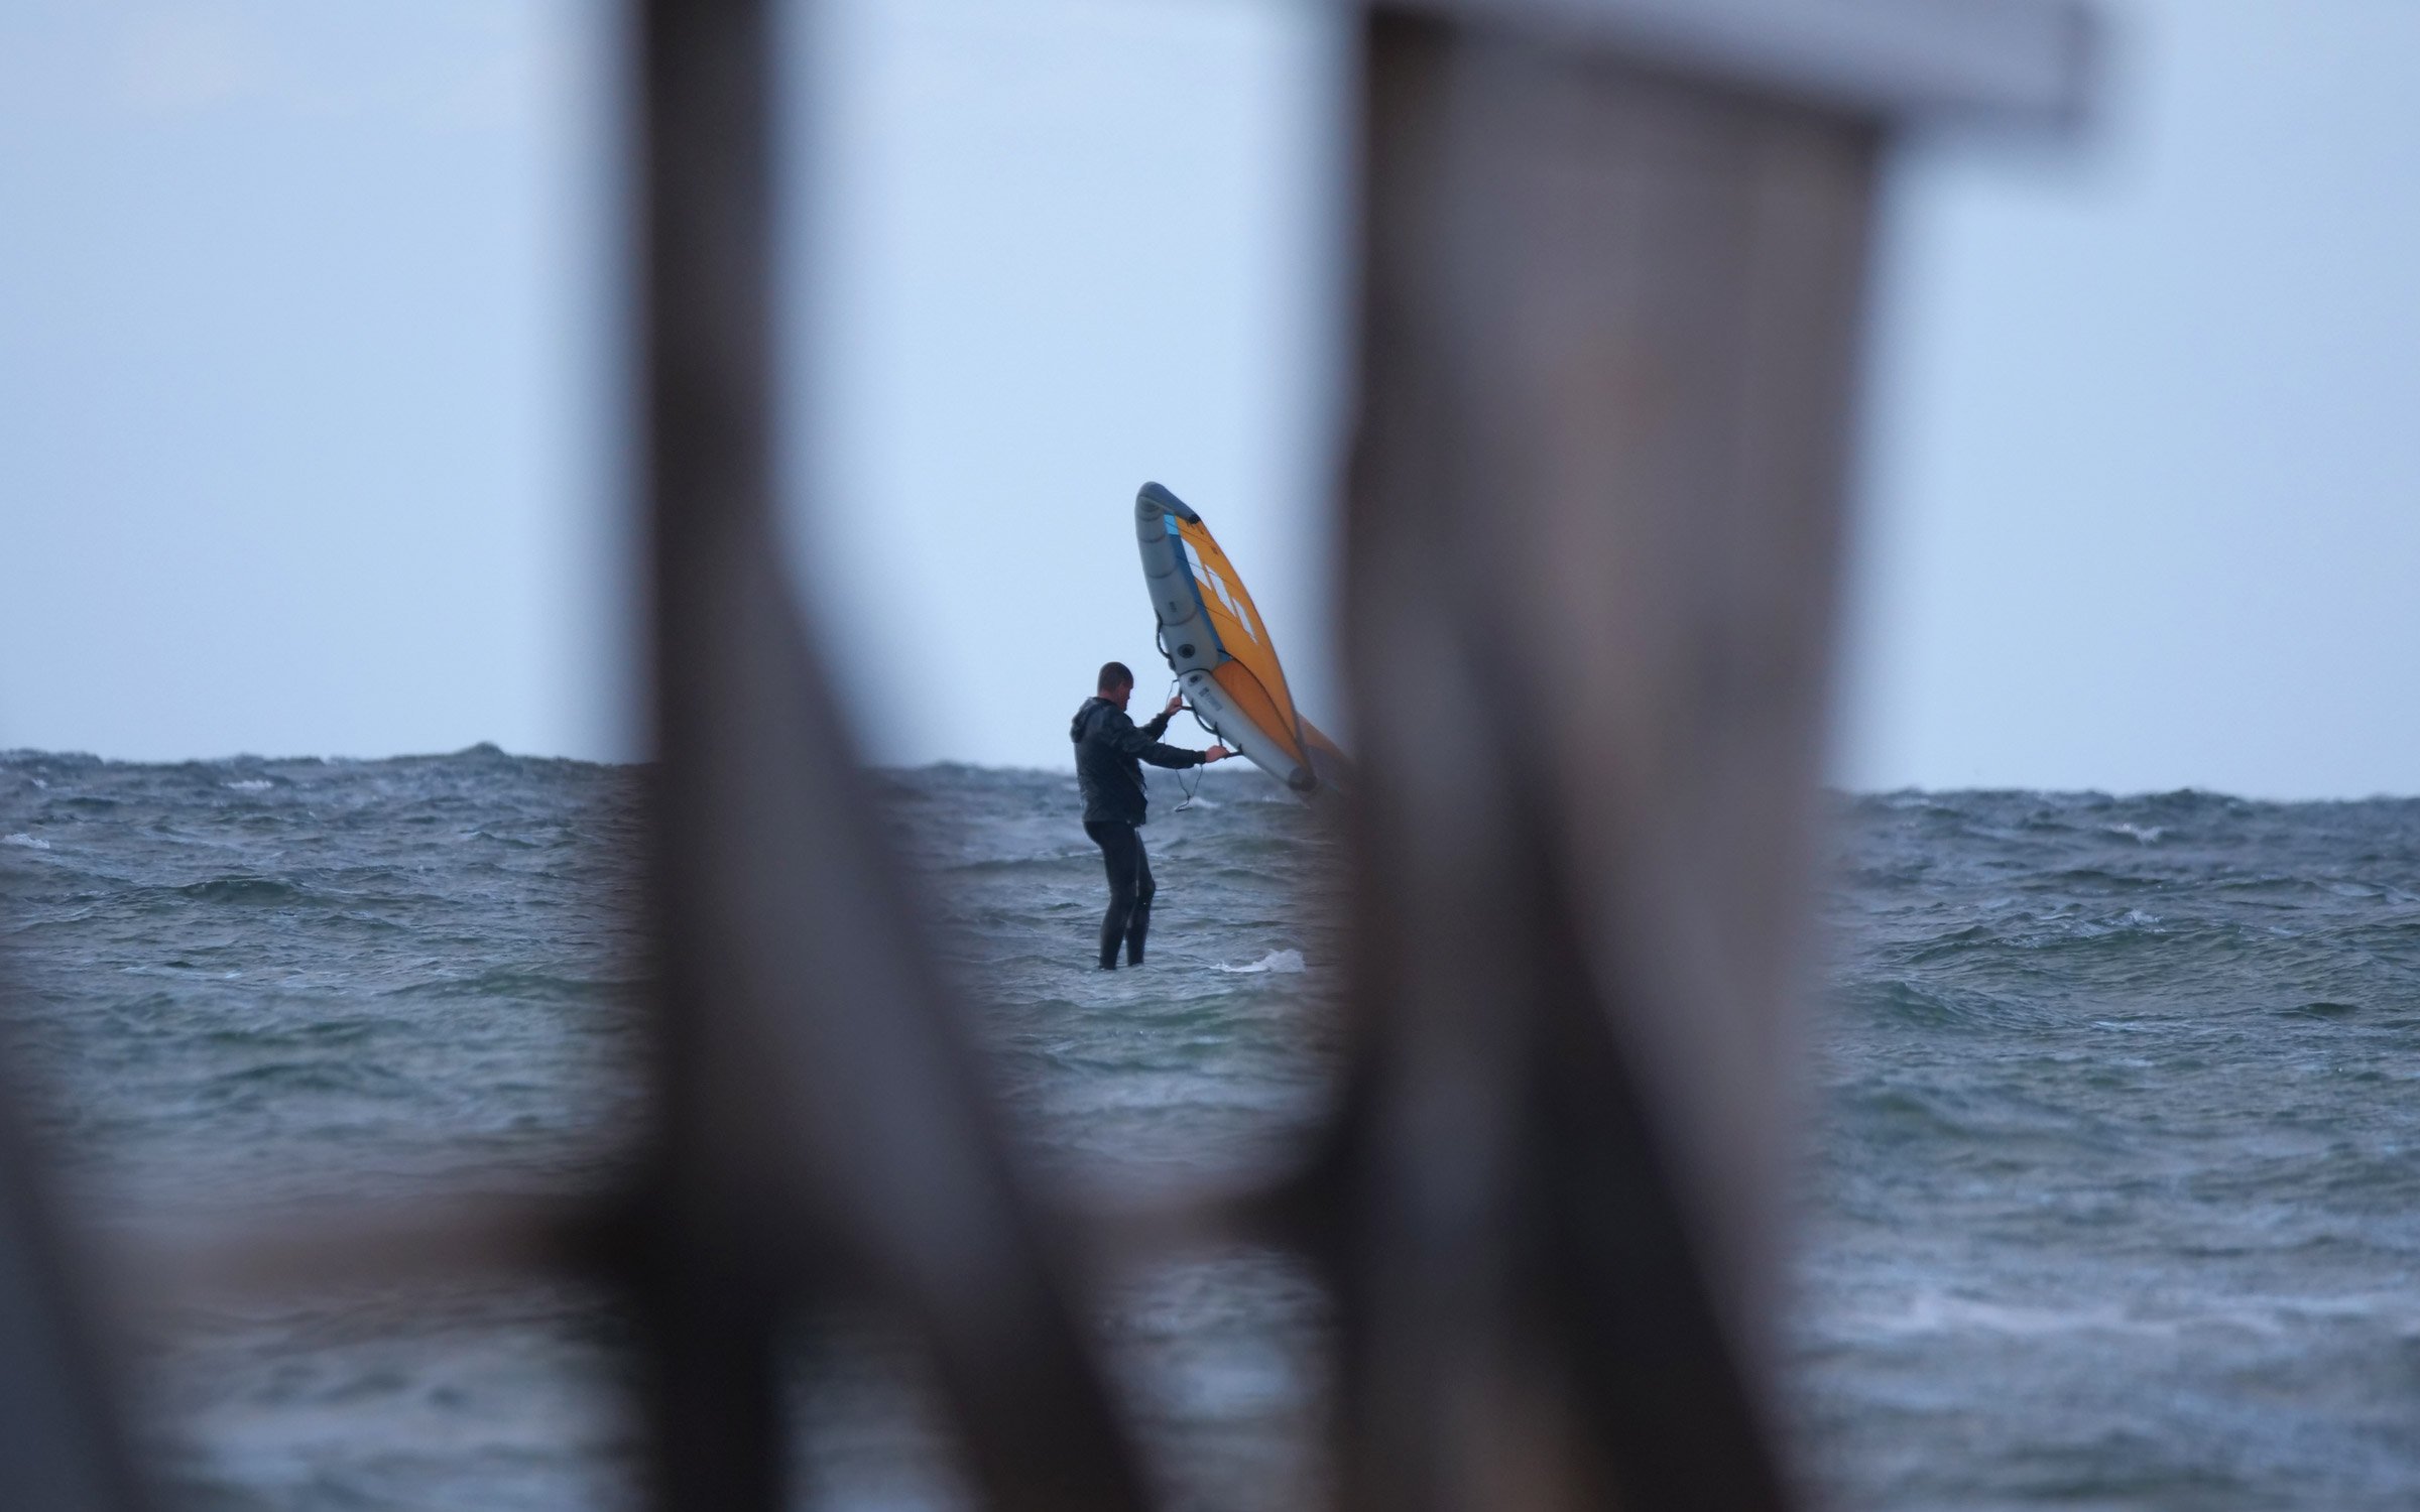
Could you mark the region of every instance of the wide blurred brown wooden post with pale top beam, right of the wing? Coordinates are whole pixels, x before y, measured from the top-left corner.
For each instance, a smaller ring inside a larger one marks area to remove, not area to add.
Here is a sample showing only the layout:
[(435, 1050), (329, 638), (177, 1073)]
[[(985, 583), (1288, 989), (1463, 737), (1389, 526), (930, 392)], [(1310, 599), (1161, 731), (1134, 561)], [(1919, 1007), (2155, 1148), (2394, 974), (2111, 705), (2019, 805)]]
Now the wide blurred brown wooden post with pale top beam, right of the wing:
[(1776, 1507), (1793, 994), (1876, 155), (2076, 15), (1367, 19), (1346, 1485)]

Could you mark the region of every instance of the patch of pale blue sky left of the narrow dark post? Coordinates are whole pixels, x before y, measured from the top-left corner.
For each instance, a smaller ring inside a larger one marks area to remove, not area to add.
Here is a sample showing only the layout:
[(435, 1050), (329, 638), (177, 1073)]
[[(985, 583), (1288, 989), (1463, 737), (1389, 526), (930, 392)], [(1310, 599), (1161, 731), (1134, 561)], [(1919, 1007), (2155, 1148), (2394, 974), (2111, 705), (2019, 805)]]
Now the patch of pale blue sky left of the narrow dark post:
[(610, 743), (578, 10), (0, 7), (0, 743)]

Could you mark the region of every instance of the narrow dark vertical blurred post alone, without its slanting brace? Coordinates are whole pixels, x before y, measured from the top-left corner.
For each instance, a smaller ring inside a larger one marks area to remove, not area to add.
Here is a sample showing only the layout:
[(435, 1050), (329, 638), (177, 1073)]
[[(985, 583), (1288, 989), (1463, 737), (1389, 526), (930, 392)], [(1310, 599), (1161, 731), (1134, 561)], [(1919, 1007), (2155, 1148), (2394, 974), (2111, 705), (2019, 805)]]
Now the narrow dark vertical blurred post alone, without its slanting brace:
[[(772, 181), (765, 0), (644, 0), (641, 394), (653, 564), (656, 849), (663, 1033), (661, 1171), (641, 1236), (639, 1311), (658, 1505), (784, 1505), (774, 1289), (743, 1260), (741, 1183), (711, 1130), (711, 943), (680, 902), (741, 815), (711, 767), (728, 755), (731, 600), (762, 571), (772, 498)], [(757, 627), (762, 634), (767, 627)], [(779, 629), (779, 627), (772, 627)], [(745, 634), (745, 631), (743, 631)], [(695, 839), (692, 839), (695, 837)]]

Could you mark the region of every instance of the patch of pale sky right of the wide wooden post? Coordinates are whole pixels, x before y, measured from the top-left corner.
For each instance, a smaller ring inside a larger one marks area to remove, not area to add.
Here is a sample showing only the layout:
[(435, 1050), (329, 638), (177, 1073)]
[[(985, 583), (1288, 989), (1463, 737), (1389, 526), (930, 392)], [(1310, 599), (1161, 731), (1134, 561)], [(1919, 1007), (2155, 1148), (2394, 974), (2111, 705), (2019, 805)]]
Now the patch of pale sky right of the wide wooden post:
[(2118, 15), (1895, 181), (1844, 777), (2420, 793), (2420, 7)]

